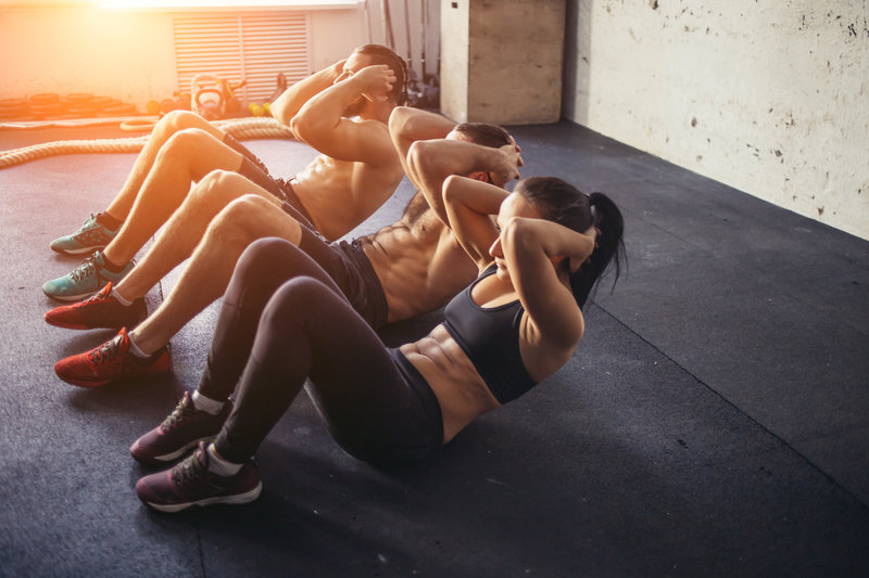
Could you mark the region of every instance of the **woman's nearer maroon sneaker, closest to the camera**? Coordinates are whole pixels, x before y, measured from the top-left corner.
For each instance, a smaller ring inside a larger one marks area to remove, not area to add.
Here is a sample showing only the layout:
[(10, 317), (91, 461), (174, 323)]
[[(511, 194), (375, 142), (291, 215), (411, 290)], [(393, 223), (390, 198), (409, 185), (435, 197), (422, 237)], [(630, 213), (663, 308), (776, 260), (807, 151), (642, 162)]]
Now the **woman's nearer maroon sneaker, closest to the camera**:
[(160, 512), (179, 512), (191, 505), (244, 504), (263, 491), (256, 463), (251, 459), (235, 476), (209, 472), (210, 455), (204, 441), (192, 455), (172, 470), (139, 479), (136, 493), (149, 508)]

